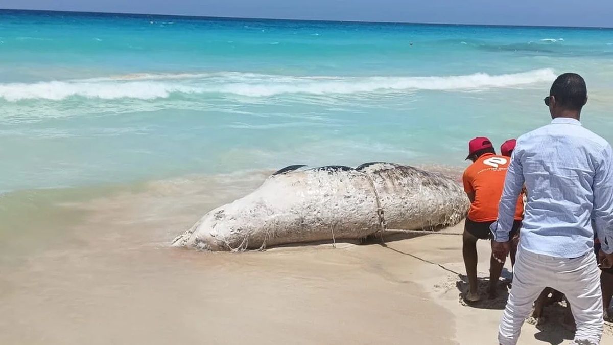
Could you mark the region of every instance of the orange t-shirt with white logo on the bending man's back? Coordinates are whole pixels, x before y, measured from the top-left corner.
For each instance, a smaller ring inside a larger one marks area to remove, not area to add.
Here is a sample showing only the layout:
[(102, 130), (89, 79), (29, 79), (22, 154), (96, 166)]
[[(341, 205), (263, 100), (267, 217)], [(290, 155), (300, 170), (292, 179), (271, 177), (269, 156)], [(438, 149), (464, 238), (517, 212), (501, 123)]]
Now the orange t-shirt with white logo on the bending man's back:
[[(462, 176), (466, 193), (474, 193), (474, 201), (468, 211), (473, 222), (492, 222), (498, 218), (498, 203), (502, 196), (504, 177), (511, 158), (485, 153), (471, 164)], [(524, 198), (519, 195), (515, 219), (524, 214)]]

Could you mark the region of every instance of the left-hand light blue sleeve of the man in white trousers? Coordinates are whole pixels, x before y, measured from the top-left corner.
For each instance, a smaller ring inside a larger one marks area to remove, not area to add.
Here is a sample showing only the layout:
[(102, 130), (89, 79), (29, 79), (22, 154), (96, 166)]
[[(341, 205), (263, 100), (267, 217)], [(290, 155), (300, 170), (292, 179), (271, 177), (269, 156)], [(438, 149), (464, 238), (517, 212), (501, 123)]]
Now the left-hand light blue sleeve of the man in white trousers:
[[(519, 146), (519, 142), (517, 145)], [(511, 163), (509, 163), (506, 171), (504, 188), (500, 197), (500, 203), (498, 204), (498, 222), (493, 223), (491, 228), (494, 241), (496, 242), (509, 241), (509, 233), (515, 220), (517, 198), (519, 198), (519, 193), (524, 188), (524, 171), (522, 163), (516, 155), (518, 152), (520, 150), (516, 146), (511, 156)]]

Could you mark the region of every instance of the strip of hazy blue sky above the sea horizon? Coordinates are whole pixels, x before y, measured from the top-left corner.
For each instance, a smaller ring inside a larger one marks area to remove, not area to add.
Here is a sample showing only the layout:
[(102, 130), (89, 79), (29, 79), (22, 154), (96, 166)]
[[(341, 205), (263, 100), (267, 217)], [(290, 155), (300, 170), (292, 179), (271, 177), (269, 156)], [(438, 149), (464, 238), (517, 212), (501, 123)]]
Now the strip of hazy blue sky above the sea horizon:
[(419, 23), (613, 26), (611, 0), (0, 0), (0, 8)]

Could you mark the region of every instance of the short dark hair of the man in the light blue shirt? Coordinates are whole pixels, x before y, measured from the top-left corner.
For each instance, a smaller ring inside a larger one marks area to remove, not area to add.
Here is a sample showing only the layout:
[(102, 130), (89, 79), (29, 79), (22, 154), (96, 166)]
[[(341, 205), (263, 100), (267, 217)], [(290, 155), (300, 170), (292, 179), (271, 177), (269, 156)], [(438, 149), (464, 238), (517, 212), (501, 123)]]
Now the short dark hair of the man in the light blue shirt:
[(576, 73), (565, 73), (555, 79), (549, 95), (555, 97), (555, 104), (569, 110), (581, 110), (587, 98), (585, 80)]

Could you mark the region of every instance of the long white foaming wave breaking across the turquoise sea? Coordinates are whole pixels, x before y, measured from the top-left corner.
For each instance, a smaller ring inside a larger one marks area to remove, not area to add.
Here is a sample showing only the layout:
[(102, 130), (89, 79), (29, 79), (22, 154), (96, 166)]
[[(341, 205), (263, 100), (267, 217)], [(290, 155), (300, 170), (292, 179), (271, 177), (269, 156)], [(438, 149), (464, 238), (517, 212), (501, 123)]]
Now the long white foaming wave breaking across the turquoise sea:
[(555, 79), (552, 69), (500, 74), (430, 77), (295, 77), (223, 72), (212, 74), (129, 74), (118, 77), (37, 83), (0, 83), (0, 98), (61, 100), (83, 98), (168, 98), (172, 94), (225, 93), (248, 97), (282, 94), (335, 95), (414, 90), (512, 88)]

